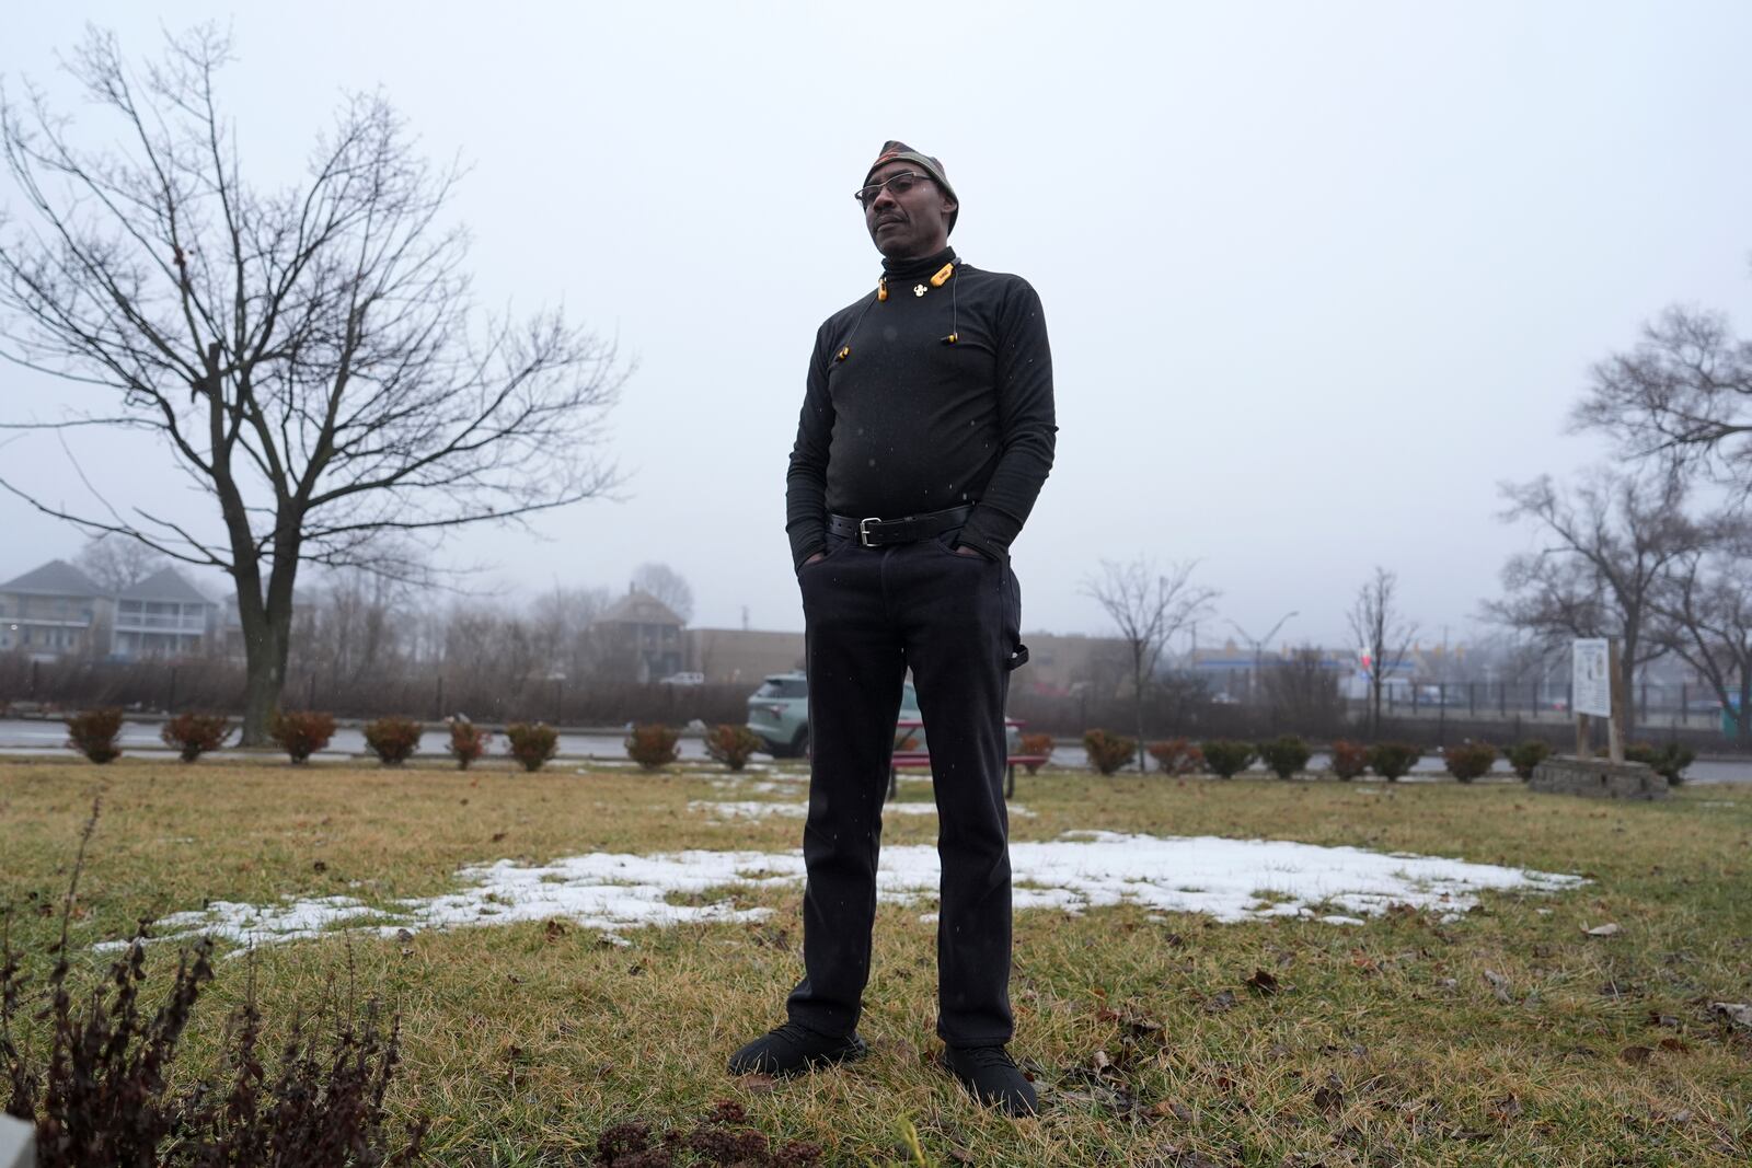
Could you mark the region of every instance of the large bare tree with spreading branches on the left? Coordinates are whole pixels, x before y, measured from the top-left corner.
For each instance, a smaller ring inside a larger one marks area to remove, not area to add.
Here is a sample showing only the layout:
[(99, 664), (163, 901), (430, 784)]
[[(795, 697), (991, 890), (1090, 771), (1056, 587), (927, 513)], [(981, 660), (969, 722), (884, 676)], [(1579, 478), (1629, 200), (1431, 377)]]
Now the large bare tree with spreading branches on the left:
[(40, 95), (0, 103), (26, 219), (0, 235), (0, 338), (14, 362), (112, 405), (60, 431), (149, 431), (208, 499), (203, 522), (39, 510), (226, 571), (247, 653), (244, 741), (286, 681), (300, 564), (394, 573), (385, 532), (442, 538), (601, 494), (601, 420), (625, 369), (557, 313), (477, 310), (457, 168), (415, 154), (377, 96), (345, 100), (284, 189), (247, 182), (219, 110), (212, 26), (135, 74), (91, 32), (70, 72), (117, 133), (82, 149)]

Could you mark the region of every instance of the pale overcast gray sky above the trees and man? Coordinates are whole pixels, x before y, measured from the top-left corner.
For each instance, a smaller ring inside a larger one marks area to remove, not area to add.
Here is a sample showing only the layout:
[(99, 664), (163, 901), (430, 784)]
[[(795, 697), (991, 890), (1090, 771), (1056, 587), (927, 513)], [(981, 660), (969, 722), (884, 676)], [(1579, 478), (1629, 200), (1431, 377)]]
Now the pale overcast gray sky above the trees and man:
[[(1748, 324), (1740, 0), (19, 5), (0, 72), (79, 116), (54, 53), (88, 19), (140, 58), (207, 18), (235, 30), (251, 172), (294, 177), (340, 95), (380, 88), (473, 163), (454, 210), (482, 299), (564, 303), (638, 357), (625, 499), (447, 553), (506, 588), (662, 560), (697, 625), (802, 627), (785, 457), (816, 324), (878, 275), (850, 193), (885, 138), (943, 158), (957, 250), (1046, 305), (1027, 629), (1106, 632), (1079, 581), (1149, 555), (1200, 559), (1254, 634), (1298, 609), (1282, 639), (1332, 644), (1382, 564), (1465, 637), (1531, 541), (1496, 482), (1601, 452), (1563, 433), (1589, 364), (1671, 301)], [(0, 369), (4, 420), (65, 399)], [(75, 450), (117, 501), (214, 529), (163, 452)], [(53, 438), (0, 468), (88, 499)], [(79, 545), (0, 497), (0, 580)]]

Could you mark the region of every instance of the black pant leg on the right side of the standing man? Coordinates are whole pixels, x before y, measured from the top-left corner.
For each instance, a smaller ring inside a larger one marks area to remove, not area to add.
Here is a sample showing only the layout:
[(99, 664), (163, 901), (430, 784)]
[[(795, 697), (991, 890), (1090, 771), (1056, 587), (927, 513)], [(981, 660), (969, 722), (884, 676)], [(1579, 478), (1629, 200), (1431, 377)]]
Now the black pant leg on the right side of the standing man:
[(937, 797), (943, 900), (937, 1035), (957, 1047), (1009, 1042), (1011, 874), (1004, 804), (1004, 700), (1021, 595), (1007, 564), (911, 548), (899, 590)]

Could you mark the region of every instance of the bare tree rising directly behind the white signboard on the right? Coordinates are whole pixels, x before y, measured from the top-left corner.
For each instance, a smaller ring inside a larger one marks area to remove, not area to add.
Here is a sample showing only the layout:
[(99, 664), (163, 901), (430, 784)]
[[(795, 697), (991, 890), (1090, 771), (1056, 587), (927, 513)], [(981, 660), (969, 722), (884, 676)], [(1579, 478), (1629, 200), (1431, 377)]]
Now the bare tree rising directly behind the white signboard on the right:
[(1505, 522), (1531, 522), (1545, 546), (1503, 566), (1503, 599), (1489, 618), (1522, 629), (1554, 650), (1575, 637), (1619, 637), (1619, 678), (1631, 734), (1635, 678), (1666, 653), (1656, 595), (1671, 566), (1703, 539), (1685, 517), (1685, 480), (1671, 468), (1635, 475), (1596, 469), (1573, 494), (1549, 475), (1503, 483)]

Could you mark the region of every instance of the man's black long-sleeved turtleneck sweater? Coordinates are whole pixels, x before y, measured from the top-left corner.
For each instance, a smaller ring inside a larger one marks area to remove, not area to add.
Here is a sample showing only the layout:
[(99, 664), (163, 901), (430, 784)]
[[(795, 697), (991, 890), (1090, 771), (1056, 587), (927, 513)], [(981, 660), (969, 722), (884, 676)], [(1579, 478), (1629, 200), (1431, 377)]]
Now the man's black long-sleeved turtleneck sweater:
[[(946, 263), (955, 275), (930, 287)], [(792, 562), (823, 550), (829, 513), (904, 518), (962, 503), (976, 506), (960, 543), (1004, 560), (1053, 468), (1041, 298), (953, 249), (885, 259), (883, 271), (887, 301), (871, 291), (815, 334), (785, 476)]]

